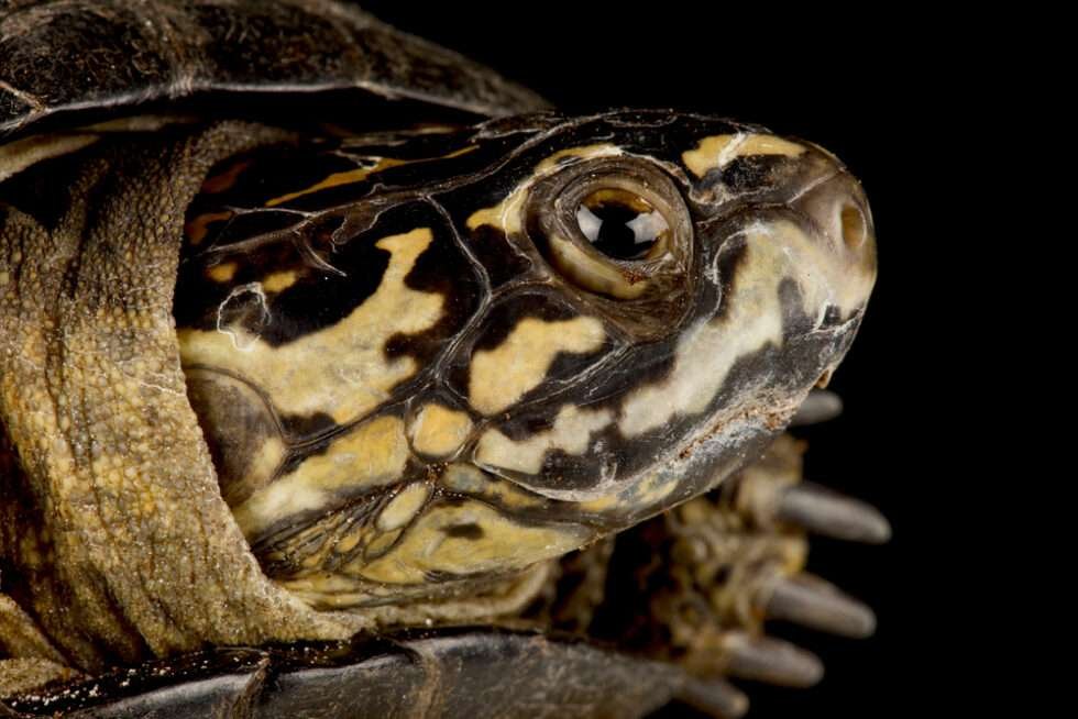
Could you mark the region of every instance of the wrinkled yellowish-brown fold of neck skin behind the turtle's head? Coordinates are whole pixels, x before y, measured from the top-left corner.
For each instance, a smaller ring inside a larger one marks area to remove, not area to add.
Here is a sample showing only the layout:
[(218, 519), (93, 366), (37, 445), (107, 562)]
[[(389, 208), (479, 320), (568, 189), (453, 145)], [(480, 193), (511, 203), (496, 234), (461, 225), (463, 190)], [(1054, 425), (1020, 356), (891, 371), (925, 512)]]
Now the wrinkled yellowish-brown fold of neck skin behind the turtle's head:
[(263, 575), (179, 365), (185, 209), (215, 162), (273, 139), (235, 123), (102, 136), (65, 161), (72, 182), (33, 214), (0, 206), (0, 422), (22, 469), (0, 556), (24, 609), (84, 670), (361, 628)]

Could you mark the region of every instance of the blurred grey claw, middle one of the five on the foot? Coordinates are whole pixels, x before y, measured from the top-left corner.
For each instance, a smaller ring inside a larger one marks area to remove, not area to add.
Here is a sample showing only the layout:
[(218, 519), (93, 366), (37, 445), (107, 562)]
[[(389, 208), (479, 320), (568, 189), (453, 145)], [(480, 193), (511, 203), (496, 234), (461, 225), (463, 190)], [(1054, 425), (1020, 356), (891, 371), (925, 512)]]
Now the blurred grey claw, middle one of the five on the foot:
[(868, 606), (809, 574), (771, 585), (763, 615), (851, 639), (865, 639), (876, 631), (876, 615)]

